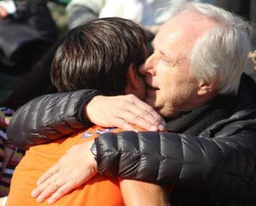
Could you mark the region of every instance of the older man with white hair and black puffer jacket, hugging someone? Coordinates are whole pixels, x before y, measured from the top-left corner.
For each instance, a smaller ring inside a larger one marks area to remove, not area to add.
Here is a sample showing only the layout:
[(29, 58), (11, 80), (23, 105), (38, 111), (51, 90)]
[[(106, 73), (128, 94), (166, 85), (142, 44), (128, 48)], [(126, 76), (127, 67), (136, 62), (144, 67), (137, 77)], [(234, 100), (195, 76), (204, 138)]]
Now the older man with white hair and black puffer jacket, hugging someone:
[[(77, 161), (81, 176), (98, 170), (172, 185), (172, 205), (255, 205), (255, 83), (243, 74), (251, 26), (213, 5), (187, 3), (176, 11), (140, 69), (148, 85), (146, 103), (166, 117), (169, 132), (104, 133), (90, 145), (80, 144), (41, 177), (36, 196), (63, 196), (62, 180), (71, 188), (77, 184), (69, 175), (76, 168), (68, 168)], [(123, 125), (134, 124), (134, 117), (144, 127), (145, 116), (154, 120), (149, 107), (134, 109), (142, 103), (130, 96), (96, 96), (86, 112), (101, 124), (107, 113), (102, 111), (120, 113), (120, 104), (126, 105)], [(87, 162), (88, 155), (96, 160)], [(56, 183), (59, 190), (49, 190)]]

